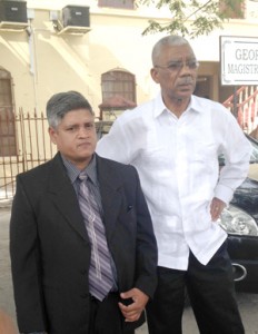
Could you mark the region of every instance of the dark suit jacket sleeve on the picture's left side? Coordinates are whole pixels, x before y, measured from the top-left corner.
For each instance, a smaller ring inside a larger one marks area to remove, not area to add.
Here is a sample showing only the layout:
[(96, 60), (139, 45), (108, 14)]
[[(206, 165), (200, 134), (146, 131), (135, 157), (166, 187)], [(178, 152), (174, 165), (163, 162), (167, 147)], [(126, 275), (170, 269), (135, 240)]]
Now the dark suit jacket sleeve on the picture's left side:
[(19, 331), (44, 332), (37, 216), (20, 176), (10, 220), (10, 257)]

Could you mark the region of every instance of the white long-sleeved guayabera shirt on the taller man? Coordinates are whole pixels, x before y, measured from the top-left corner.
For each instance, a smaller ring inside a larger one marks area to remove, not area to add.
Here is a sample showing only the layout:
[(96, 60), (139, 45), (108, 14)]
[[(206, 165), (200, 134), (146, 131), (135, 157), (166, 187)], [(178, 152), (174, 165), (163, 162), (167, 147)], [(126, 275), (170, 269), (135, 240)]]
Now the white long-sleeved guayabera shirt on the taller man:
[[(187, 269), (189, 248), (200, 263), (209, 262), (227, 238), (211, 222), (211, 199), (228, 204), (249, 167), (250, 145), (230, 111), (192, 96), (178, 119), (159, 95), (125, 111), (98, 143), (97, 153), (138, 169), (159, 266)], [(219, 174), (220, 154), (226, 166)]]

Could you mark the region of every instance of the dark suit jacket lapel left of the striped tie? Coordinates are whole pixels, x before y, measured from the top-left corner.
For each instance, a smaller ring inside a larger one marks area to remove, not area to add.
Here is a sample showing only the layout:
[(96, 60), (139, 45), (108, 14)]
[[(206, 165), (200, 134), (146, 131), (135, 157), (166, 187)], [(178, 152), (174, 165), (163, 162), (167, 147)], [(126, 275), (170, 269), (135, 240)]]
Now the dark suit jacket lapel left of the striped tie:
[(89, 242), (76, 191), (67, 176), (59, 154), (53, 158), (52, 163), (49, 196), (64, 220), (70, 224), (83, 239)]

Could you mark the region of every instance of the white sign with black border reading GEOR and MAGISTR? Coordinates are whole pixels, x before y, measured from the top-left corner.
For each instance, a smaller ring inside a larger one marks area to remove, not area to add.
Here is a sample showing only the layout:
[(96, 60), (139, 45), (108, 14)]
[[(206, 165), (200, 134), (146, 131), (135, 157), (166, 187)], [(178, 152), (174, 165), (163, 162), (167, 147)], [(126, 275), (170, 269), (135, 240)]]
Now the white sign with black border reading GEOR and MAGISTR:
[(221, 85), (258, 85), (258, 38), (220, 37)]

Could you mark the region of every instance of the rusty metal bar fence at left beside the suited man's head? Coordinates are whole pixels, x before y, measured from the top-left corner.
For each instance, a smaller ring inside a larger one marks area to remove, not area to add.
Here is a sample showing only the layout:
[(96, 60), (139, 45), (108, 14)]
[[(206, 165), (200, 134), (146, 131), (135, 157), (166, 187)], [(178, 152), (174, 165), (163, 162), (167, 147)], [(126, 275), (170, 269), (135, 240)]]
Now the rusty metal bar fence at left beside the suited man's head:
[(10, 199), (16, 176), (49, 160), (57, 151), (48, 135), (43, 114), (1, 110), (0, 114), (0, 199)]

